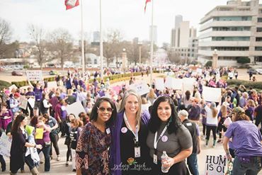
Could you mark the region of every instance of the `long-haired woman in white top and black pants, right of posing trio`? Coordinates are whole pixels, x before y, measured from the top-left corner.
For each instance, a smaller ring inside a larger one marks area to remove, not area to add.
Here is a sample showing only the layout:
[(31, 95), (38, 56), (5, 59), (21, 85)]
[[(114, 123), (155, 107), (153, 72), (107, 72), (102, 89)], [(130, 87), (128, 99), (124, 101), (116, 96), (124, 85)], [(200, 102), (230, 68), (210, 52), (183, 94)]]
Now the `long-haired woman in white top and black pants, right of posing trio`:
[(205, 106), (205, 111), (207, 112), (207, 137), (205, 138), (205, 147), (208, 146), (208, 141), (210, 138), (210, 131), (212, 130), (213, 134), (213, 147), (215, 147), (216, 140), (217, 140), (217, 115), (219, 109), (216, 107), (216, 104), (212, 102), (211, 104), (207, 104)]

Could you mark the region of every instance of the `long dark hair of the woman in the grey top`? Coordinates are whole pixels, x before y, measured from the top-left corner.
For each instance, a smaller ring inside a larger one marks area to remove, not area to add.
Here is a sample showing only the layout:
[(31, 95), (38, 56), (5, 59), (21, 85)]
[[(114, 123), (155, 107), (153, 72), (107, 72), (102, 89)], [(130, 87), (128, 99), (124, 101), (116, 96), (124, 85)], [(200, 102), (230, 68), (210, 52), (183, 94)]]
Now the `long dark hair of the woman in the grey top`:
[(167, 101), (171, 107), (171, 116), (169, 118), (169, 126), (167, 128), (167, 131), (169, 134), (173, 132), (177, 132), (178, 128), (181, 128), (181, 122), (178, 118), (178, 114), (176, 112), (176, 106), (174, 105), (172, 99), (169, 96), (160, 96), (159, 98), (156, 98), (156, 101), (154, 101), (152, 111), (151, 111), (151, 118), (148, 123), (149, 130), (153, 133), (155, 133), (161, 124), (161, 120), (157, 114), (157, 108), (159, 107), (159, 103)]

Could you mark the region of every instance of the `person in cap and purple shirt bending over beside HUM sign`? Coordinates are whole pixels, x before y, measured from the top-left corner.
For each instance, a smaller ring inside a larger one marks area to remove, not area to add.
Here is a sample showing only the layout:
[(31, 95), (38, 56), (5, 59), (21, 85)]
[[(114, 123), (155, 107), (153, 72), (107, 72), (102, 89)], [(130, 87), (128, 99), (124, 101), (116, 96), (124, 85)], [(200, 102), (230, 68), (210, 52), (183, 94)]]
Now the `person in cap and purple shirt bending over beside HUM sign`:
[(243, 108), (237, 107), (232, 111), (232, 121), (224, 135), (224, 151), (227, 159), (229, 154), (229, 139), (232, 138), (234, 147), (233, 174), (258, 174), (261, 171), (262, 136), (254, 123), (250, 122)]

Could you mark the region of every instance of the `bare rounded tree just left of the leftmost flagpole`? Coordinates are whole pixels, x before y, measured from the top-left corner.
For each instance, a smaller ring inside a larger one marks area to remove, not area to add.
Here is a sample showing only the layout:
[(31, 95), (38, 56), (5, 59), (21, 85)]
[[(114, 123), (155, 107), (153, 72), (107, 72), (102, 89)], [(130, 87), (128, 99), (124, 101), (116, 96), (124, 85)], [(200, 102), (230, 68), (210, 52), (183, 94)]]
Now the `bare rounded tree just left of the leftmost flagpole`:
[(64, 69), (64, 60), (72, 56), (73, 39), (68, 30), (58, 28), (51, 33), (52, 50), (58, 52), (61, 67)]

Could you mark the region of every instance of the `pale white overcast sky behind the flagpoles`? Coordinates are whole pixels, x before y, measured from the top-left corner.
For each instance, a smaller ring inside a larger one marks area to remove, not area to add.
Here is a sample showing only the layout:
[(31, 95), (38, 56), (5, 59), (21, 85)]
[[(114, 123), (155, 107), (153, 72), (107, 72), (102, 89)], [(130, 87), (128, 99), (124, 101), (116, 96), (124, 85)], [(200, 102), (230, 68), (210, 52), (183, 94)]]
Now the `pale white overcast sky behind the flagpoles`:
[[(99, 30), (99, 1), (82, 0), (84, 8), (84, 31)], [(80, 1), (81, 2), (81, 1)], [(125, 40), (138, 37), (149, 39), (152, 3), (145, 0), (102, 0), (103, 33), (118, 29)], [(199, 28), (200, 18), (227, 0), (154, 0), (154, 25), (157, 26), (158, 45), (170, 43), (171, 28), (175, 16), (180, 14), (190, 26)], [(81, 8), (65, 10), (64, 0), (0, 0), (0, 17), (11, 23), (13, 40), (29, 41), (28, 24), (33, 23), (47, 31), (66, 28), (75, 39), (81, 31)]]

